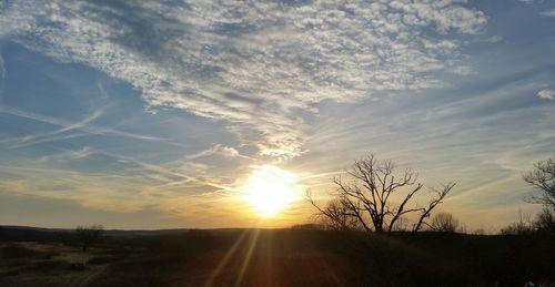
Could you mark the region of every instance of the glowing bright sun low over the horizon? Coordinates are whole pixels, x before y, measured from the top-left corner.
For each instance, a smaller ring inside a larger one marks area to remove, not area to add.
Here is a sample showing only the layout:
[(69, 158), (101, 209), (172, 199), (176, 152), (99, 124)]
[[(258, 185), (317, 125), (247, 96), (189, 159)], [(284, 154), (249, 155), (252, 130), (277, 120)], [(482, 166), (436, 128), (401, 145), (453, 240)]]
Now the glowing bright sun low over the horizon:
[(254, 213), (263, 217), (275, 216), (300, 197), (302, 185), (297, 176), (273, 165), (256, 166), (248, 182), (240, 187)]

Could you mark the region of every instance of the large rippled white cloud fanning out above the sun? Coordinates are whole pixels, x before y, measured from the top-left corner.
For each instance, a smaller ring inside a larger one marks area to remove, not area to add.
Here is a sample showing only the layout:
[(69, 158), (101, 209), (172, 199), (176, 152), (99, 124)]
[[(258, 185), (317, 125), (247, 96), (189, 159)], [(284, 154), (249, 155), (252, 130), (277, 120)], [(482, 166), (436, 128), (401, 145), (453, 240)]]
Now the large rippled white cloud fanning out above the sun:
[(296, 111), (441, 88), (437, 72), (472, 71), (452, 33), (480, 33), (487, 19), (464, 2), (17, 1), (3, 4), (0, 37), (128, 81), (150, 109), (224, 121), (260, 155), (290, 158), (306, 139)]

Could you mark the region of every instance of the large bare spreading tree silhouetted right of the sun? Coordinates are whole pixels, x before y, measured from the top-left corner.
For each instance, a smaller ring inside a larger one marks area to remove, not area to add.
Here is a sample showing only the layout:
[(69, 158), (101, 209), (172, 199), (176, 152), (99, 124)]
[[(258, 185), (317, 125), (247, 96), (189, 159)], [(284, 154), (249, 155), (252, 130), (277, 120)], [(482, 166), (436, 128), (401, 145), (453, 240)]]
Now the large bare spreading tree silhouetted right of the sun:
[[(310, 193), (309, 201), (321, 215), (332, 222), (343, 222), (343, 217), (346, 217), (355, 219), (363, 229), (376, 233), (394, 230), (397, 222), (407, 214), (417, 214), (413, 232), (420, 230), (425, 218), (430, 217), (432, 211), (455, 186), (454, 183), (448, 183), (438, 191), (434, 189), (436, 195), (428, 205), (418, 207), (412, 201), (423, 187), (423, 184), (417, 182), (417, 174), (405, 170), (397, 175), (391, 161), (377, 161), (373, 154), (355, 161), (346, 171), (346, 177), (349, 180), (342, 176), (333, 180), (336, 186), (333, 208), (321, 208)], [(395, 203), (395, 197), (401, 201)]]

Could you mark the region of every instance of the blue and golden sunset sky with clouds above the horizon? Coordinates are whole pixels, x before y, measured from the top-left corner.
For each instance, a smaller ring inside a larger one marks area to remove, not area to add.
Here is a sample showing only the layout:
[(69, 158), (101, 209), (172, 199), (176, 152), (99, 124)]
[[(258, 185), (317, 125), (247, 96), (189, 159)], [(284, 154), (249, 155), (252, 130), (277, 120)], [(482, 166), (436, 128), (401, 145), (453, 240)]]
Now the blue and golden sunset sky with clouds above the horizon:
[(554, 28), (553, 0), (0, 0), (0, 224), (290, 226), (374, 153), (498, 228), (555, 155)]

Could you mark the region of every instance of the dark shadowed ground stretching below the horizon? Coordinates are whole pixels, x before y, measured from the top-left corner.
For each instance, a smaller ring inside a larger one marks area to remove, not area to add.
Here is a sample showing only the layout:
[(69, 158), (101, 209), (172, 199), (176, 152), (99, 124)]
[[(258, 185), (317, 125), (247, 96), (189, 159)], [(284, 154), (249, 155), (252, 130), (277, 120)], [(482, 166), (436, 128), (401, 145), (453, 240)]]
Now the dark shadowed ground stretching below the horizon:
[(555, 286), (545, 235), (381, 237), (307, 229), (108, 232), (0, 227), (0, 286)]

